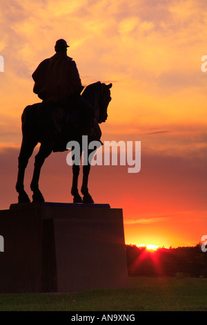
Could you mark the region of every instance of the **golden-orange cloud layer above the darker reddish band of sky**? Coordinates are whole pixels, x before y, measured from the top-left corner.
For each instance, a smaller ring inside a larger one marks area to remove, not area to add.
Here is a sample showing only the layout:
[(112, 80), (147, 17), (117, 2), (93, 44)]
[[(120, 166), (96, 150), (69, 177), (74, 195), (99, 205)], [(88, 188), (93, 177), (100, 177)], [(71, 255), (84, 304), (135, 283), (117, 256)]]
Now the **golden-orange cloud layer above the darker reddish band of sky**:
[[(116, 81), (103, 134), (131, 134), (150, 150), (168, 146), (173, 154), (204, 146), (199, 139), (206, 127), (206, 75), (200, 70), (207, 34), (203, 1), (17, 0), (0, 6), (3, 144), (17, 145), (18, 133), (19, 142), (23, 108), (39, 101), (31, 74), (63, 37), (83, 84)], [(10, 123), (4, 122), (6, 116)], [(155, 131), (159, 138), (144, 136), (150, 127), (160, 127)]]

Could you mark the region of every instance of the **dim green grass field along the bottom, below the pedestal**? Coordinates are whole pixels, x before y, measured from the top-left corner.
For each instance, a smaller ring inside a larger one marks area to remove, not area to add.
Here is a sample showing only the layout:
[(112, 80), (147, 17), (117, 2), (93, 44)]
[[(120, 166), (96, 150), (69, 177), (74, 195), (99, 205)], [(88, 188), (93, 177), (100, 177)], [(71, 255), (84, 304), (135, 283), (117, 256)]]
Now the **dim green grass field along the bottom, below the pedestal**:
[(66, 294), (0, 295), (0, 311), (184, 311), (207, 310), (207, 279), (129, 279), (128, 288)]

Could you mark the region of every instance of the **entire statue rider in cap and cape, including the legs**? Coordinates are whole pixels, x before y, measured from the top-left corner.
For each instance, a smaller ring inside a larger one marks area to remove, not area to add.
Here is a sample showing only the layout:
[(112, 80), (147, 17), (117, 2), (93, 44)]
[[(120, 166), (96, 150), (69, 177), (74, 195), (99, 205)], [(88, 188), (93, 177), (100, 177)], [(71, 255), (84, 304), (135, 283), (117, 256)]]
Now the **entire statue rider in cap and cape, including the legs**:
[[(56, 130), (61, 133), (65, 120), (64, 114), (72, 112), (72, 120), (74, 120), (75, 115), (75, 120), (79, 121), (83, 133), (87, 134), (92, 132), (95, 111), (81, 97), (81, 91), (84, 87), (81, 84), (75, 61), (67, 55), (68, 47), (64, 39), (57, 40), (55, 44), (56, 54), (44, 59), (32, 74), (33, 91), (43, 100), (41, 116), (52, 127), (51, 132)], [(59, 109), (58, 113), (54, 113), (57, 112), (56, 109)]]

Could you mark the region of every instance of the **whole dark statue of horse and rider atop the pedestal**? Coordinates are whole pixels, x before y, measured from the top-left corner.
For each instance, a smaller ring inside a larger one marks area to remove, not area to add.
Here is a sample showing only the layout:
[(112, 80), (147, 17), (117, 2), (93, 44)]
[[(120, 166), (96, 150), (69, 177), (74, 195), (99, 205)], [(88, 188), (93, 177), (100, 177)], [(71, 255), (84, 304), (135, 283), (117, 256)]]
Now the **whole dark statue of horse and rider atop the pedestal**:
[[(39, 190), (39, 176), (45, 159), (52, 152), (66, 151), (67, 143), (75, 140), (79, 142), (81, 156), (83, 135), (88, 136), (88, 142), (98, 140), (102, 145), (99, 124), (108, 117), (112, 84), (96, 82), (81, 93), (84, 87), (81, 85), (75, 62), (66, 54), (67, 47), (66, 41), (59, 39), (55, 45), (56, 55), (41, 62), (32, 75), (34, 93), (43, 101), (26, 106), (21, 115), (22, 142), (16, 184), (19, 203), (30, 202), (23, 181), (28, 160), (38, 143), (41, 145), (35, 156), (30, 184), (34, 202), (44, 201)], [(94, 149), (88, 150), (88, 156), (92, 152), (95, 153)], [(83, 165), (83, 199), (78, 191), (79, 171), (79, 165), (72, 165), (73, 202), (94, 203), (88, 192), (90, 164)]]

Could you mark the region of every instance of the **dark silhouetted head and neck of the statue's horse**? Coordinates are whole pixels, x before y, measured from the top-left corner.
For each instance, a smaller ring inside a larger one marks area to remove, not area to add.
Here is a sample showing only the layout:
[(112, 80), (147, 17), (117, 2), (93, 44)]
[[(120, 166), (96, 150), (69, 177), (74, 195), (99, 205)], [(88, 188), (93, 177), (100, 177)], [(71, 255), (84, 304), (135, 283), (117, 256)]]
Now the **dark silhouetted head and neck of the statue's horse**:
[(82, 97), (95, 109), (96, 119), (99, 123), (105, 122), (108, 117), (107, 109), (111, 101), (111, 87), (112, 84), (107, 85), (95, 82), (95, 84), (87, 86), (82, 93)]

